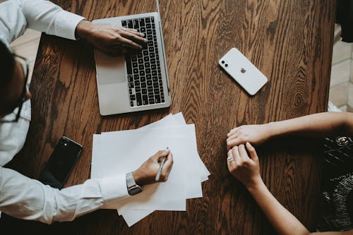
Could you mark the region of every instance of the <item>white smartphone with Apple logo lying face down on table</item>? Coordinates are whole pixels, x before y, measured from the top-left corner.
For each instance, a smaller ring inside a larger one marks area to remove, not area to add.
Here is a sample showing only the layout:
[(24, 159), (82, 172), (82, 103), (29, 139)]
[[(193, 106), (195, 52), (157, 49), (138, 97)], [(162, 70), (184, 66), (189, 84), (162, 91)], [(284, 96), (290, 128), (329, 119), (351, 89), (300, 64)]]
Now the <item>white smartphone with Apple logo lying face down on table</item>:
[(268, 79), (254, 66), (244, 54), (235, 47), (223, 56), (218, 64), (241, 85), (249, 95), (255, 95)]

